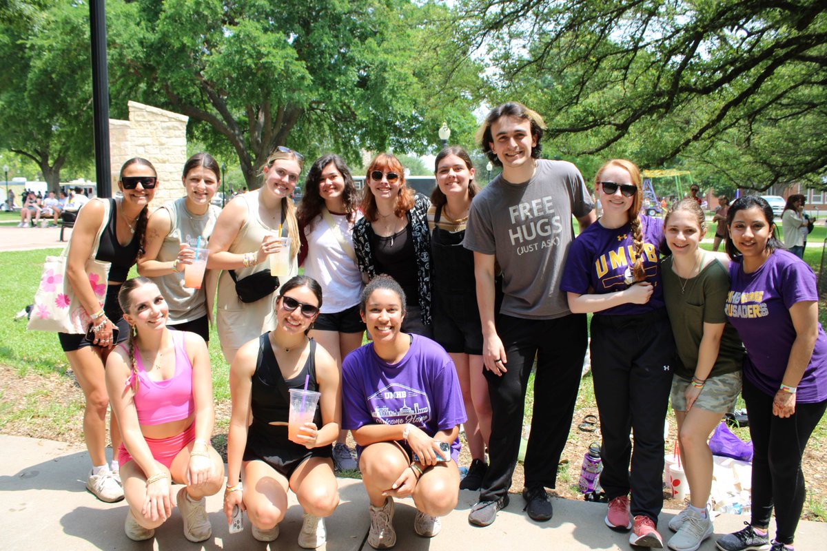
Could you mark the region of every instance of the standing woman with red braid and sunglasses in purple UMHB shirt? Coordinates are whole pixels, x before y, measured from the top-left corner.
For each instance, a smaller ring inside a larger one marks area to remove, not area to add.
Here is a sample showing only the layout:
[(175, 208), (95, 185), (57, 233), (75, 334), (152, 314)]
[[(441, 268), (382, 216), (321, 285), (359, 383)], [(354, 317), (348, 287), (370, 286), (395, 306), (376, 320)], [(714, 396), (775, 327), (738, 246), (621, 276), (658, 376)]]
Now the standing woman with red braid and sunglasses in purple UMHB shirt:
[(675, 342), (658, 265), (663, 222), (640, 214), (640, 183), (628, 160), (600, 168), (595, 190), (603, 216), (571, 245), (560, 288), (572, 312), (595, 313), (590, 354), (603, 430), (600, 484), (609, 497), (605, 523), (632, 529), (630, 544), (663, 547), (656, 527)]

